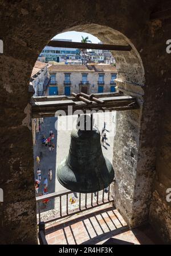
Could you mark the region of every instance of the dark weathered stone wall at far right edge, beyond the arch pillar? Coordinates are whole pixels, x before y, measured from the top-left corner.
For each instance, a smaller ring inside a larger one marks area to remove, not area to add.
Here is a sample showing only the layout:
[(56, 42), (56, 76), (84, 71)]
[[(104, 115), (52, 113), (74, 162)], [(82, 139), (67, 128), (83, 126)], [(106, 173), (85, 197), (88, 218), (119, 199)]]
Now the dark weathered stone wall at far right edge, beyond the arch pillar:
[[(170, 79), (169, 79), (170, 80)], [(169, 82), (169, 81), (168, 81)], [(153, 197), (150, 206), (150, 223), (166, 242), (171, 241), (171, 202), (166, 200), (166, 190), (171, 189), (171, 87), (165, 85), (164, 111), (160, 126), (160, 142), (156, 161), (156, 177), (153, 184)]]

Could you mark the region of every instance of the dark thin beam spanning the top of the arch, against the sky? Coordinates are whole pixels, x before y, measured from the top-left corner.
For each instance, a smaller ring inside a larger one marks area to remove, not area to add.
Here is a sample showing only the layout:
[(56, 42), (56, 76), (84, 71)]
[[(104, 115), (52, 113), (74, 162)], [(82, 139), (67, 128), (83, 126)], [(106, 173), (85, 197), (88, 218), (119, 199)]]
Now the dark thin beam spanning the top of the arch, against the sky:
[(75, 49), (96, 49), (96, 50), (109, 50), (109, 51), (131, 51), (130, 45), (103, 45), (100, 43), (79, 43), (68, 41), (51, 40), (47, 46), (52, 47), (66, 47)]

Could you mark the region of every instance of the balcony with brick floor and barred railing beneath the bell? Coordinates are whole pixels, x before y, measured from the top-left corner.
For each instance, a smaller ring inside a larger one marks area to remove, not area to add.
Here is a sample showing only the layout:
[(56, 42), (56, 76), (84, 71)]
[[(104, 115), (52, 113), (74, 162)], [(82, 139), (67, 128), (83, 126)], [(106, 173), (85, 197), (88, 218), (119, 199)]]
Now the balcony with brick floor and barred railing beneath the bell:
[[(149, 224), (134, 230), (129, 229), (121, 214), (113, 206), (113, 199), (104, 191), (80, 194), (71, 205), (71, 191), (61, 191), (36, 198), (59, 199), (59, 213), (42, 218), (39, 211), (39, 242), (48, 245), (140, 245), (160, 244)], [(64, 207), (65, 205), (65, 207)], [(65, 210), (65, 212), (63, 211)], [(57, 221), (58, 222), (54, 222)], [(52, 222), (52, 223), (50, 223)]]

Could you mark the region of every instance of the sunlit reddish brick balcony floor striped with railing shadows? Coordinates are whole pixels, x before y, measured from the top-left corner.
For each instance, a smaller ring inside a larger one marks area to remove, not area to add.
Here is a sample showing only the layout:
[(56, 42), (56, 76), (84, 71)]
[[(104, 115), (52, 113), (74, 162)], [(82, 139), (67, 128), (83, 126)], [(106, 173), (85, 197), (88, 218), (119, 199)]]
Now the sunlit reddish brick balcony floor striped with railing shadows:
[(160, 238), (150, 225), (130, 230), (111, 204), (80, 213), (46, 226), (52, 245), (154, 245)]

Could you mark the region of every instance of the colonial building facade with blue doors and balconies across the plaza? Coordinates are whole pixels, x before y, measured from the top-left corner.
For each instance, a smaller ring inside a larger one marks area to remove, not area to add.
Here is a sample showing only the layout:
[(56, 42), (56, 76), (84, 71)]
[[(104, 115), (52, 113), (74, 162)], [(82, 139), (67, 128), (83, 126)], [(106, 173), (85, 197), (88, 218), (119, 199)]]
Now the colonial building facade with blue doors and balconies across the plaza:
[(111, 65), (52, 65), (47, 95), (103, 93), (116, 90), (116, 67)]

